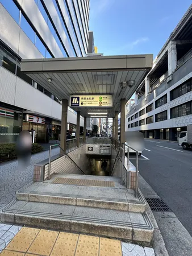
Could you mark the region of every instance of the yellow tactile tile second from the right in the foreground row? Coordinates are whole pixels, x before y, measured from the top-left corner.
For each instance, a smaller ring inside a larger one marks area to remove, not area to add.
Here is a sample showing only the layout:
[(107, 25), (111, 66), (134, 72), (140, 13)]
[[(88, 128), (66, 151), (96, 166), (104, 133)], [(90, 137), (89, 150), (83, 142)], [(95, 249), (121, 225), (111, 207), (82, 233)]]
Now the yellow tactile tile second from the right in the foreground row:
[[(75, 256), (98, 256), (99, 237), (80, 235)], [(111, 255), (112, 256), (112, 255)]]

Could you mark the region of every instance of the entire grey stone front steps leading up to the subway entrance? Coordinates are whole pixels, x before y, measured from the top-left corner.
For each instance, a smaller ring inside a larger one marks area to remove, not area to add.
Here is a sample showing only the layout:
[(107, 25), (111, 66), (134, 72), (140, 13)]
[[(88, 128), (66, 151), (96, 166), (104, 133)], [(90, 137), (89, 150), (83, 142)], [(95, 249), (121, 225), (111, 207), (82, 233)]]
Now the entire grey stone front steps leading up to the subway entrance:
[[(52, 183), (55, 177), (112, 181), (114, 187)], [(120, 185), (116, 177), (55, 175), (47, 183), (31, 183), (2, 210), (2, 222), (120, 238), (149, 245), (153, 226), (139, 192)]]

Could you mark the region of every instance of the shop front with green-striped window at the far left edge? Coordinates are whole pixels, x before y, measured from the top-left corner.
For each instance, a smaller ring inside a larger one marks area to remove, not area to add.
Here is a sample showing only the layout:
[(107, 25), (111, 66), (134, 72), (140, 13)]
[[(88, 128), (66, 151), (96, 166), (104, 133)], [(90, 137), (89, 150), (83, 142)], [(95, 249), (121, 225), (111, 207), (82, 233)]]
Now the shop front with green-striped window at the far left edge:
[(15, 143), (22, 130), (22, 113), (0, 106), (0, 143)]

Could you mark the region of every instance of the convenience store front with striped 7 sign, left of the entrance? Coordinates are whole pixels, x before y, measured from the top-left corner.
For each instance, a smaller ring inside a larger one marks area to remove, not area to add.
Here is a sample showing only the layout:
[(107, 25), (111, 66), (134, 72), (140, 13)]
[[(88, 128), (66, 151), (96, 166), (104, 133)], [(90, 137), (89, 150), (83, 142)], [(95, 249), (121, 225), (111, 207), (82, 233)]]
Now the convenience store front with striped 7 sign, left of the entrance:
[(45, 118), (36, 117), (36, 115), (26, 114), (26, 119), (23, 121), (23, 130), (32, 131), (35, 133), (35, 143), (47, 143), (48, 142), (48, 129), (45, 124)]

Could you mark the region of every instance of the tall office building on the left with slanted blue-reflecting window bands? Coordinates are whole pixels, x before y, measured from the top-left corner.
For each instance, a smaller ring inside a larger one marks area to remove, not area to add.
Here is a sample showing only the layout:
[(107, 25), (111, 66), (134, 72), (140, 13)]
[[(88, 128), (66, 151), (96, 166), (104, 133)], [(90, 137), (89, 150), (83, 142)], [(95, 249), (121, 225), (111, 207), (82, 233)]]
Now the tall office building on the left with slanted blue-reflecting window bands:
[[(47, 134), (59, 138), (61, 101), (24, 75), (20, 62), (86, 56), (88, 40), (89, 0), (0, 0), (1, 143), (32, 128), (36, 142), (46, 142)], [(68, 123), (76, 125), (77, 113), (68, 112)]]

